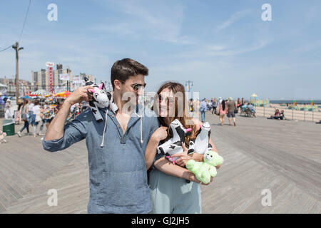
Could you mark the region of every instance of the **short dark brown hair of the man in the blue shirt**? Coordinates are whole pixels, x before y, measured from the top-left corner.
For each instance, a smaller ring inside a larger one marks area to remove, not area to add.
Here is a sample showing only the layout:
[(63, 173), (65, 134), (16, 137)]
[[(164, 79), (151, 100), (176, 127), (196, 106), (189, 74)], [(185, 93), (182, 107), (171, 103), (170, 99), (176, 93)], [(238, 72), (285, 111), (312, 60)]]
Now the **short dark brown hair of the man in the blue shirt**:
[(148, 76), (148, 68), (131, 58), (123, 58), (116, 61), (111, 68), (111, 85), (113, 90), (115, 89), (113, 81), (119, 80), (125, 82), (129, 77), (137, 76), (138, 74)]

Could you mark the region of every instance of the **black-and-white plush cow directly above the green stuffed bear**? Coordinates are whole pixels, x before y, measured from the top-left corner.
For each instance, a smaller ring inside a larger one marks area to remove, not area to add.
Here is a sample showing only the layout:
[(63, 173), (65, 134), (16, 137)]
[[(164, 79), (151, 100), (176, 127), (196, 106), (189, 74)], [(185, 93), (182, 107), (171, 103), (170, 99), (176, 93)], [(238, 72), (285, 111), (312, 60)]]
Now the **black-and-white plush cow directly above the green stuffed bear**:
[(188, 154), (197, 152), (203, 155), (207, 150), (212, 150), (212, 148), (212, 145), (210, 145), (210, 123), (205, 122), (200, 126), (195, 140), (190, 140)]

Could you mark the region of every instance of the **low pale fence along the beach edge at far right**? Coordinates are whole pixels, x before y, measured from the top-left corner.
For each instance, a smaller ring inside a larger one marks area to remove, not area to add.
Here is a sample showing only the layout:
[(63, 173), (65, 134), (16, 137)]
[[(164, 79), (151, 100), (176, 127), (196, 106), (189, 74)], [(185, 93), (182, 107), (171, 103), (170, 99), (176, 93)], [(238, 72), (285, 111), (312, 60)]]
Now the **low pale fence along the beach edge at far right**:
[[(270, 117), (271, 115), (274, 115), (275, 108), (255, 107), (255, 111), (256, 111), (255, 115)], [(307, 111), (307, 110), (284, 109), (284, 115), (285, 115), (285, 118), (290, 120), (304, 120), (304, 121), (321, 120), (321, 112), (317, 110)]]

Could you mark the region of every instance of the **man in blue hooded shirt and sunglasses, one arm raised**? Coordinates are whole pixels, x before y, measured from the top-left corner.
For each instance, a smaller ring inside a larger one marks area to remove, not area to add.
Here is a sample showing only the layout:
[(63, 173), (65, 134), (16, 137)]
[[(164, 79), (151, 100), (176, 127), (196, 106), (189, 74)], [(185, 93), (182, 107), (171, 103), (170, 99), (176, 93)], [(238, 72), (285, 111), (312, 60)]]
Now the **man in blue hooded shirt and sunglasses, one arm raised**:
[[(118, 110), (99, 109), (103, 121), (98, 122), (87, 108), (65, 125), (71, 105), (91, 100), (88, 89), (93, 87), (83, 86), (63, 102), (46, 132), (43, 145), (51, 152), (86, 138), (90, 178), (88, 213), (149, 213), (152, 210), (145, 151), (159, 124), (155, 113), (145, 110), (142, 116), (144, 110), (137, 110), (138, 95), (146, 86), (145, 76), (148, 68), (141, 63), (130, 58), (116, 61), (111, 68), (111, 83)], [(131, 107), (135, 108), (128, 112)]]

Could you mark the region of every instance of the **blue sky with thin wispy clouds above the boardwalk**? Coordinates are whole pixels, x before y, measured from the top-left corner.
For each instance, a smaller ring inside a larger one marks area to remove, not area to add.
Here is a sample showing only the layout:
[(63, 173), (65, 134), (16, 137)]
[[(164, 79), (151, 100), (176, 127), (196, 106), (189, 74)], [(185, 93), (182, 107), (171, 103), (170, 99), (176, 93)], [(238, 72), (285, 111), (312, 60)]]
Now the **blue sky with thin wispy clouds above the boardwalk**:
[[(51, 61), (108, 81), (115, 61), (133, 58), (149, 68), (146, 91), (193, 81), (200, 98), (321, 99), (320, 0), (32, 0), (20, 38), (28, 5), (0, 1), (0, 50), (24, 47), (21, 79)], [(15, 71), (14, 49), (1, 51), (0, 77)]]

